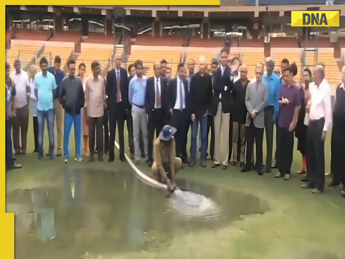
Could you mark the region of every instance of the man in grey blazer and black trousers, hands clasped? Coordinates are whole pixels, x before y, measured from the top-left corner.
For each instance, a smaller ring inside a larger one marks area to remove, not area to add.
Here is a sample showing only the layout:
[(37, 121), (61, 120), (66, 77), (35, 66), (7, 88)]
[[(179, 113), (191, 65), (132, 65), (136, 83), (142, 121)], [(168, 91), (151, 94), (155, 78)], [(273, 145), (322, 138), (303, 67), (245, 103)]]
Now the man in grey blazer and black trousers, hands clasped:
[(246, 138), (247, 153), (246, 164), (241, 167), (242, 172), (250, 170), (250, 161), (253, 153), (254, 139), (256, 147), (256, 170), (263, 175), (262, 142), (265, 128), (265, 107), (268, 99), (268, 85), (262, 82), (264, 67), (258, 64), (255, 69), (256, 82), (249, 83), (246, 90), (245, 104), (247, 107)]

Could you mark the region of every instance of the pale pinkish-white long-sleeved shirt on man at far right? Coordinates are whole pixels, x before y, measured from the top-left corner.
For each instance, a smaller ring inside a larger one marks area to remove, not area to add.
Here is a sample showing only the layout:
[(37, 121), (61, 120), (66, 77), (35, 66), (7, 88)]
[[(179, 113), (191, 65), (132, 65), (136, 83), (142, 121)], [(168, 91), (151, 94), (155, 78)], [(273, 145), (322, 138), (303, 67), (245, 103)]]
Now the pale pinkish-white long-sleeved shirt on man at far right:
[(332, 126), (331, 90), (329, 89), (329, 84), (324, 79), (319, 87), (315, 86), (315, 84), (312, 87), (309, 85), (309, 91), (311, 92), (309, 119), (314, 121), (324, 117), (325, 125), (323, 130), (327, 131)]

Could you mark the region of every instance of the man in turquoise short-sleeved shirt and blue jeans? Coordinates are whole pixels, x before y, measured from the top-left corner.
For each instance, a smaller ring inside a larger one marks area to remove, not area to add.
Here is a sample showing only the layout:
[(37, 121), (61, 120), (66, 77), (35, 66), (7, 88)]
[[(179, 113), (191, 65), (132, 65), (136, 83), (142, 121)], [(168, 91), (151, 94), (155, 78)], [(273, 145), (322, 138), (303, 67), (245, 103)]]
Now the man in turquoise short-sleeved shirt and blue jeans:
[(43, 57), (40, 60), (41, 72), (34, 79), (34, 92), (37, 98), (38, 119), (38, 159), (43, 159), (43, 132), (47, 120), (49, 132), (49, 156), (54, 159), (54, 121), (55, 109), (53, 97), (56, 95), (56, 83), (53, 74), (48, 72), (48, 60)]

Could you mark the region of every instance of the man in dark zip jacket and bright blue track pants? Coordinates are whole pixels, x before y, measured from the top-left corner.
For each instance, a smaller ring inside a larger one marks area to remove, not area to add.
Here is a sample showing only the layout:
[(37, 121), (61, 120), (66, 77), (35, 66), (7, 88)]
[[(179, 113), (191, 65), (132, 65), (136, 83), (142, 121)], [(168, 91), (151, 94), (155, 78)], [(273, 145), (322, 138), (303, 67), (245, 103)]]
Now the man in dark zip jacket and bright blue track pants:
[(69, 134), (71, 133), (72, 123), (74, 124), (74, 138), (76, 156), (75, 160), (81, 162), (81, 117), (80, 111), (84, 107), (84, 89), (79, 77), (75, 76), (76, 61), (68, 61), (68, 77), (64, 78), (59, 91), (59, 102), (65, 109), (65, 121), (63, 126), (63, 154), (65, 163), (69, 157)]

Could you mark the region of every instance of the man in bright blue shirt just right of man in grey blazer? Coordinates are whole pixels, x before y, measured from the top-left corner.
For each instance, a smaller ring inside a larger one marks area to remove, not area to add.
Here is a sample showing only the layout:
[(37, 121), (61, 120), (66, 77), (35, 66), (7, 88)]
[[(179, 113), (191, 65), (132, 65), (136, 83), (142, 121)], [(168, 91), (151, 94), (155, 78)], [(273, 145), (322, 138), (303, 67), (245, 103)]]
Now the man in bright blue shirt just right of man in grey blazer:
[(266, 132), (266, 173), (271, 172), (273, 153), (273, 124), (277, 121), (279, 112), (279, 77), (273, 73), (275, 61), (272, 58), (266, 59), (267, 73), (263, 76), (263, 82), (268, 85), (268, 99), (265, 108), (265, 132)]

